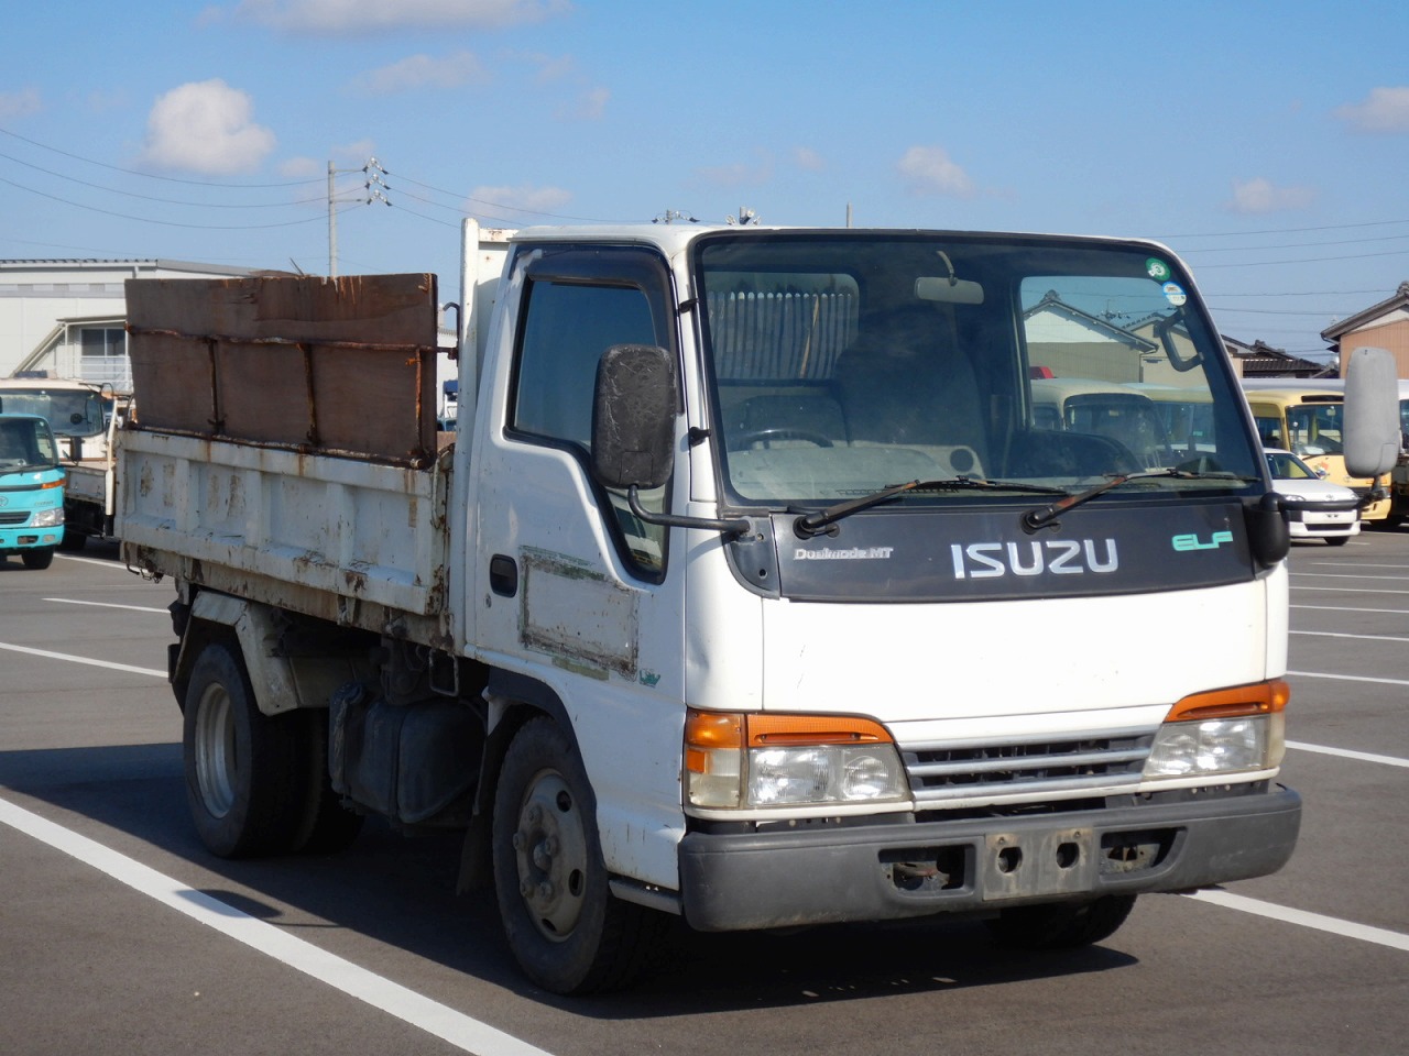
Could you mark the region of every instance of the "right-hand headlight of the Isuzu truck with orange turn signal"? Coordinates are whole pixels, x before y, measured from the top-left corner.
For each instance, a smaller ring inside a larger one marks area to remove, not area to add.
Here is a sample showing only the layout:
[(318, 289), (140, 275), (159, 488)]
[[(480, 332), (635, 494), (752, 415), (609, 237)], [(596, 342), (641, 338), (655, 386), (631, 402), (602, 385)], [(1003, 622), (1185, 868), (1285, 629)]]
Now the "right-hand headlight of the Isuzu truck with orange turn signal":
[(1285, 681), (1272, 680), (1185, 697), (1155, 734), (1144, 777), (1271, 770), (1286, 753)]

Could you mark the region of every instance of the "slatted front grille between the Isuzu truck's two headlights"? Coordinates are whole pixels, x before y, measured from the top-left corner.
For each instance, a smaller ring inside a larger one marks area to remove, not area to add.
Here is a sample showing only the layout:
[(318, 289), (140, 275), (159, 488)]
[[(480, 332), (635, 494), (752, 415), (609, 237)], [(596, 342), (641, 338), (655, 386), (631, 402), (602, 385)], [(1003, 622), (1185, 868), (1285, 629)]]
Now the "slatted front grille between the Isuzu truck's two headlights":
[(916, 804), (1065, 800), (1140, 783), (1153, 732), (1086, 734), (1067, 741), (919, 745), (903, 750)]

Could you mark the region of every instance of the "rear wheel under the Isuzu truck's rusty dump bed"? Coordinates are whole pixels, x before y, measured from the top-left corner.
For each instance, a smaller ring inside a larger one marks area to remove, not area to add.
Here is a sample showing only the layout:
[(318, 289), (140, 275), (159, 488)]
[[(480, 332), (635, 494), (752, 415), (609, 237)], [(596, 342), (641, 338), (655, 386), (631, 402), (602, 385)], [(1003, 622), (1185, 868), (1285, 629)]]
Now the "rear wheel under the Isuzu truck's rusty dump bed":
[(285, 853), (307, 787), (304, 715), (263, 715), (235, 646), (207, 643), (192, 669), (182, 736), (186, 801), (220, 857)]

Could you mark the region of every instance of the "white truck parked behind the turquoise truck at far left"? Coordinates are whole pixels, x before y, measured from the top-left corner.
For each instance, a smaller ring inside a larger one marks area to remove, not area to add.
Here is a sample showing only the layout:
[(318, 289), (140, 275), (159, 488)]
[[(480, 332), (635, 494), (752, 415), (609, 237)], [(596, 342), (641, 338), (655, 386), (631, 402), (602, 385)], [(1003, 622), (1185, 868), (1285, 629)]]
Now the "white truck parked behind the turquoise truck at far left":
[(37, 414), (49, 422), (68, 473), (62, 549), (83, 549), (89, 538), (110, 538), (117, 508), (116, 435), (131, 393), (108, 384), (21, 372), (0, 379), (0, 414)]

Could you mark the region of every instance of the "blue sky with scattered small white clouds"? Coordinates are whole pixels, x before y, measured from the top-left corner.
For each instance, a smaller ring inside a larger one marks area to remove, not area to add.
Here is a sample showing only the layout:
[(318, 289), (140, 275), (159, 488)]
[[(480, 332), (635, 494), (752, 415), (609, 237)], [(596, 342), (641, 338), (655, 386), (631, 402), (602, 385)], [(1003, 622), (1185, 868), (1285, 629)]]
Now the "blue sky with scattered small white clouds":
[(1316, 355), (1409, 282), (1409, 4), (0, 0), (0, 259), (458, 284), (490, 227), (1154, 238)]

